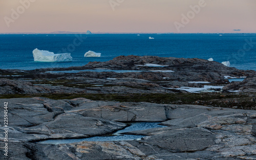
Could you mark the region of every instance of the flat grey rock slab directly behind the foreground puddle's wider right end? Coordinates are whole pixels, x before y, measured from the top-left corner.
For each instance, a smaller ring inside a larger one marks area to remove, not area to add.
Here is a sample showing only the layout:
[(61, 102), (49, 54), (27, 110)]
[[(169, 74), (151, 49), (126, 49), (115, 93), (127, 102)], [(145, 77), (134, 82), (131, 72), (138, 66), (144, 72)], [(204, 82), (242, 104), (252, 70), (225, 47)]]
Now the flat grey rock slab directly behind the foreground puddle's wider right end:
[[(97, 107), (95, 107), (96, 105)], [(115, 104), (113, 102), (95, 102), (84, 104), (69, 112), (79, 112), (79, 114), (85, 117), (102, 118), (118, 122), (160, 122), (166, 120), (165, 105), (145, 102)]]

